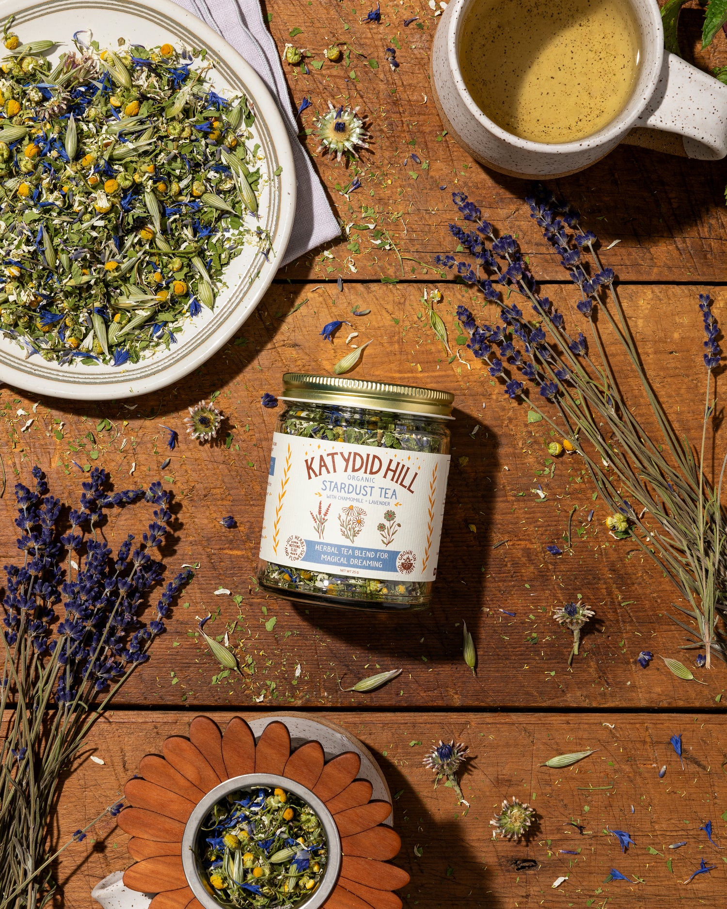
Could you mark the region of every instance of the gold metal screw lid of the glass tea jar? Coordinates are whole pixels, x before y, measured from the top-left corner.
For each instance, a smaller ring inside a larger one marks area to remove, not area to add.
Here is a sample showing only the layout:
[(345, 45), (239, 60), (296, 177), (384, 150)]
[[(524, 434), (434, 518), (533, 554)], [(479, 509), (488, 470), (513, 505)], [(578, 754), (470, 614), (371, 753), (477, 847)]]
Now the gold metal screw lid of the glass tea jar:
[(369, 410), (454, 419), (454, 395), (451, 392), (419, 388), (416, 385), (346, 379), (341, 375), (285, 373), (281, 398), (284, 401), (311, 401), (315, 404), (365, 407)]

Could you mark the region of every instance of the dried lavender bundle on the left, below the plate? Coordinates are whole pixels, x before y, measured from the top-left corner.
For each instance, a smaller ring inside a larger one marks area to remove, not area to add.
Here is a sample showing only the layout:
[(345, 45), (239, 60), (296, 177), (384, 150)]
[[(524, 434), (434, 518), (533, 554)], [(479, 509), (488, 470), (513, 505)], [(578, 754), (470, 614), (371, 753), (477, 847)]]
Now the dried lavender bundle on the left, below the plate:
[[(39, 467), (33, 476), (35, 489), (15, 486), (17, 545), (25, 560), (5, 565), (0, 711), (8, 726), (0, 749), (0, 909), (35, 909), (51, 899), (51, 863), (95, 823), (50, 854), (61, 775), (121, 685), (149, 659), (174, 596), (192, 577), (186, 569), (166, 584), (154, 617), (144, 624), (146, 595), (164, 575), (163, 562), (152, 553), (172, 520), (171, 493), (161, 483), (109, 493), (105, 471), (94, 468), (63, 534), (60, 500), (49, 494)], [(142, 500), (154, 505), (154, 520), (141, 544), (132, 549), (129, 534), (114, 556), (97, 533), (105, 509)], [(99, 816), (118, 814), (120, 807)]]

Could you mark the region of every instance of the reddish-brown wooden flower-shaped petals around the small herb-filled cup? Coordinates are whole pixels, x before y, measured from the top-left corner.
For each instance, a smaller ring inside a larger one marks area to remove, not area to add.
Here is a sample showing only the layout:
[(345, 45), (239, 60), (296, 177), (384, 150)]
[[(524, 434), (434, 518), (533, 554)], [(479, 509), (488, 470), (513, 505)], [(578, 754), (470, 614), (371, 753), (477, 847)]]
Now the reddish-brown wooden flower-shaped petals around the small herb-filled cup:
[(173, 735), (164, 757), (146, 754), (139, 774), (126, 784), (131, 805), (118, 816), (130, 834), (129, 854), (135, 864), (124, 872), (124, 884), (142, 893), (156, 892), (149, 909), (203, 909), (182, 868), (184, 824), (195, 804), (214, 786), (232, 776), (277, 774), (304, 785), (333, 814), (341, 835), (341, 874), (325, 909), (401, 909), (393, 890), (409, 883), (401, 868), (386, 864), (402, 841), (383, 822), (392, 813), (385, 800), (372, 800), (373, 786), (356, 779), (361, 758), (353, 751), (327, 763), (319, 742), (302, 744), (291, 753), (287, 726), (274, 721), (257, 744), (244, 719), (234, 716), (224, 735), (206, 716), (197, 716), (189, 738)]

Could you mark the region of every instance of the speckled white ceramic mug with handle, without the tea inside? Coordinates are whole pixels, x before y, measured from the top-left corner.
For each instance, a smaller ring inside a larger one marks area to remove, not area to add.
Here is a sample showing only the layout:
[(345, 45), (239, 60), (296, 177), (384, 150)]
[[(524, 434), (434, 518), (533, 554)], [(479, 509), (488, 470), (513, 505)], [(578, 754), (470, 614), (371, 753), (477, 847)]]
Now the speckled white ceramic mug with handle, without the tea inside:
[(642, 58), (629, 103), (597, 133), (558, 144), (508, 133), (474, 103), (464, 85), (458, 50), (464, 19), (476, 2), (450, 0), (434, 37), (432, 75), (434, 100), (444, 125), (483, 165), (511, 176), (574, 174), (608, 155), (633, 127), (681, 138), (689, 158), (716, 161), (727, 155), (727, 85), (664, 51), (657, 0), (631, 0)]

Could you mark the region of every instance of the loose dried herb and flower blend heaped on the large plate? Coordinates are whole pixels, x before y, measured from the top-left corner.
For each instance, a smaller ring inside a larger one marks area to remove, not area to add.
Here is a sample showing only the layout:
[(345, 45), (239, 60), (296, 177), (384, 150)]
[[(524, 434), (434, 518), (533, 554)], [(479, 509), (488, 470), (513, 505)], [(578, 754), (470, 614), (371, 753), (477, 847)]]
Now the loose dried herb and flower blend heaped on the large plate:
[[(217, 95), (204, 51), (51, 41), (0, 75), (0, 328), (28, 356), (122, 366), (214, 307), (255, 230), (262, 155), (244, 96)], [(265, 177), (263, 178), (265, 179)]]

